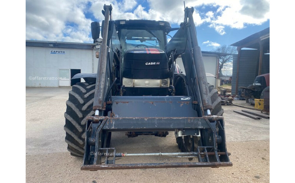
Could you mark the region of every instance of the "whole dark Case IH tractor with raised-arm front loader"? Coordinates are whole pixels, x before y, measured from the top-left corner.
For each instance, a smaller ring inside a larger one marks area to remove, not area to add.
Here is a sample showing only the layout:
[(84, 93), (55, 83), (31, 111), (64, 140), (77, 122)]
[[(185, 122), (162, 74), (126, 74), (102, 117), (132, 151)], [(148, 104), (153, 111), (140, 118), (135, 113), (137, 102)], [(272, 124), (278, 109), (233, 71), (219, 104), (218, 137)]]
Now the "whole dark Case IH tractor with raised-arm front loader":
[[(185, 7), (180, 28), (165, 21), (112, 20), (104, 5), (96, 74), (69, 92), (65, 141), (83, 156), (81, 170), (232, 166), (226, 149), (221, 99), (207, 83), (193, 8)], [(94, 43), (100, 24), (91, 23)], [(167, 43), (166, 35), (178, 30)], [(181, 57), (185, 74), (175, 72)], [(179, 152), (121, 153), (110, 147), (112, 132), (128, 137), (175, 134)], [(187, 158), (181, 163), (116, 164), (117, 157)], [(191, 161), (195, 159), (196, 161)]]

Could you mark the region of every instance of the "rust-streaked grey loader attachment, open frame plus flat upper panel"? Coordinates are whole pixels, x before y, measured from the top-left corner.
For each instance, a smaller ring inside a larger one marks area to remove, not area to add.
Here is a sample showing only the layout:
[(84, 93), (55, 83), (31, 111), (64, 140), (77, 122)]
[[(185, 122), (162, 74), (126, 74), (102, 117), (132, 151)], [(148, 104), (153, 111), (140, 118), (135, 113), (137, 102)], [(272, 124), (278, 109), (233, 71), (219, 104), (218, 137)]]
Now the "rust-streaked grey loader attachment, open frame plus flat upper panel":
[[(186, 96), (112, 97), (112, 116), (87, 118), (85, 153), (81, 170), (232, 166), (226, 150), (223, 117), (195, 117), (196, 111), (192, 109), (192, 105), (191, 97)], [(163, 112), (163, 109), (171, 112)], [(160, 117), (152, 117), (155, 115)], [(199, 137), (199, 146), (189, 152), (120, 153), (115, 148), (106, 147), (104, 138), (106, 132), (118, 131), (173, 131), (180, 137)], [(186, 157), (195, 158), (198, 162), (115, 164), (116, 157), (128, 156)]]

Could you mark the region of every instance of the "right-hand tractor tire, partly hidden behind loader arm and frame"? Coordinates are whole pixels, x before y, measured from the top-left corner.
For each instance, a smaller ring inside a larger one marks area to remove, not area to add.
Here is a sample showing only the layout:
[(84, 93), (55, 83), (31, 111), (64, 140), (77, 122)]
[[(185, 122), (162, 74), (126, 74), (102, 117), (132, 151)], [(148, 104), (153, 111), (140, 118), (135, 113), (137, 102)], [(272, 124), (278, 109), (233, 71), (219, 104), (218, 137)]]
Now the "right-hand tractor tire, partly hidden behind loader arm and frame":
[[(217, 89), (214, 89), (213, 85), (210, 85), (208, 83), (209, 87), (209, 96), (211, 97), (212, 102), (212, 115), (222, 116), (224, 110), (221, 107), (221, 98), (218, 96)], [(187, 151), (197, 151), (198, 145), (199, 145), (199, 139), (196, 136), (193, 136), (193, 138), (190, 138), (189, 136), (183, 136), (176, 138), (176, 142), (178, 144), (178, 148), (182, 152)]]

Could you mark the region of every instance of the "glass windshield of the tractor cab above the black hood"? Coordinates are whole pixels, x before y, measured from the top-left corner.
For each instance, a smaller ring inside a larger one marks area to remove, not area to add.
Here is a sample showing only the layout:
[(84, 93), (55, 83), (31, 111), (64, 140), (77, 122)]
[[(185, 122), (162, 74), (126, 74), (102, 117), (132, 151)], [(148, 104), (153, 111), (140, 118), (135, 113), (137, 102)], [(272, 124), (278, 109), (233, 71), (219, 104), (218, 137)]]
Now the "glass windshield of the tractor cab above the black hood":
[(163, 30), (142, 30), (122, 29), (120, 32), (120, 43), (122, 51), (130, 48), (158, 48), (164, 50), (165, 35)]

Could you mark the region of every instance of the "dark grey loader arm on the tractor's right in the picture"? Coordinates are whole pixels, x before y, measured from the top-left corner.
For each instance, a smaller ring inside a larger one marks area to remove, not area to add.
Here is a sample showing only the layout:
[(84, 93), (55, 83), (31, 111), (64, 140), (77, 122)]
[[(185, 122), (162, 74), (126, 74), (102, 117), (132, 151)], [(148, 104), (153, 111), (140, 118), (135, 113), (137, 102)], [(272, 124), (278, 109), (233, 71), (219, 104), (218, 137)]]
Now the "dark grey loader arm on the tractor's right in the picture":
[(183, 66), (187, 80), (191, 86), (192, 95), (200, 101), (199, 110), (201, 110), (201, 114), (210, 115), (212, 102), (208, 97), (209, 89), (207, 86), (206, 72), (192, 15), (194, 8), (186, 7), (184, 12), (184, 22), (180, 24), (180, 28), (167, 44), (166, 52), (168, 54), (173, 53), (175, 58), (182, 55)]

